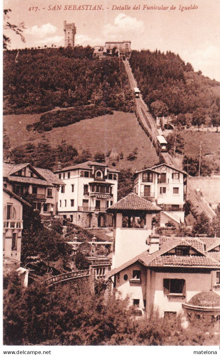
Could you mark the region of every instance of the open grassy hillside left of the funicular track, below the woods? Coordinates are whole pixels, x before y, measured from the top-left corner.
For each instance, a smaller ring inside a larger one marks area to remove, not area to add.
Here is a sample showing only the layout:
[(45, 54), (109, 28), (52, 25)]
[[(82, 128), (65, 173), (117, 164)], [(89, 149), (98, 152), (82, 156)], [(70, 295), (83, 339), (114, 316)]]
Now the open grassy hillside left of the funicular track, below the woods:
[[(37, 114), (4, 116), (11, 147), (30, 141), (37, 144), (44, 136), (52, 146), (56, 146), (64, 139), (79, 151), (89, 149), (92, 154), (97, 151), (106, 153), (115, 147), (117, 153), (124, 154), (124, 159), (116, 165), (117, 169), (131, 167), (135, 170), (143, 168), (144, 164), (152, 166), (158, 163), (156, 151), (154, 148), (151, 149), (151, 142), (138, 125), (133, 113), (116, 111), (114, 115), (83, 120), (66, 127), (54, 128), (50, 132), (28, 132), (26, 125), (38, 121), (39, 117), (40, 115)], [(138, 158), (129, 162), (126, 157), (135, 147), (139, 147)]]

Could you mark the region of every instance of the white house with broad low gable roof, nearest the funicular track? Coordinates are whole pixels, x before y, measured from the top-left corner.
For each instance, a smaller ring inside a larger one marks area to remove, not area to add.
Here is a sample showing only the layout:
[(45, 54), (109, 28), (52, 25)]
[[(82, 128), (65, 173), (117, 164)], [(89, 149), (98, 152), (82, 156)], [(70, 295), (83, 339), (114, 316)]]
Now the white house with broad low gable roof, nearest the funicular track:
[(133, 192), (161, 208), (161, 226), (184, 222), (184, 203), (187, 173), (165, 163), (134, 174)]

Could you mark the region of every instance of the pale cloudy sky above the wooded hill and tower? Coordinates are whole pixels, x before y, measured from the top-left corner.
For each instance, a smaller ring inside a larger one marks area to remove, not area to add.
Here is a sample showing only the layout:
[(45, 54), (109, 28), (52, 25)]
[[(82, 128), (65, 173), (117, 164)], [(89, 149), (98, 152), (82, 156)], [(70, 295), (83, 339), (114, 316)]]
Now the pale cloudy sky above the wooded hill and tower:
[[(80, 5), (81, 10), (72, 10)], [(89, 6), (82, 10), (82, 5)], [(101, 10), (89, 10), (95, 5)], [(54, 6), (56, 10), (52, 10)], [(64, 46), (66, 20), (75, 23), (75, 45), (93, 47), (105, 41), (131, 40), (132, 49), (178, 53), (195, 71), (220, 81), (220, 0), (5, 0), (4, 8), (12, 10), (7, 21), (25, 26), (25, 43), (4, 30), (11, 38), (10, 49)]]

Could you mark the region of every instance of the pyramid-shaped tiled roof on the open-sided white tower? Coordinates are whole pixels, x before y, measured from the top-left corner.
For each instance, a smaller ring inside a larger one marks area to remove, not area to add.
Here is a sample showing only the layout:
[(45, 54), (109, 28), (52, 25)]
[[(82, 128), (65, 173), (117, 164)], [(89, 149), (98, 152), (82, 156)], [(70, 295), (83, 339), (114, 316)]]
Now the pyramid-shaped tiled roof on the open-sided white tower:
[(120, 209), (129, 209), (129, 210), (143, 210), (143, 211), (161, 211), (161, 208), (156, 206), (150, 201), (145, 200), (144, 198), (136, 195), (136, 193), (129, 193), (127, 196), (123, 197), (118, 202), (114, 203), (109, 210), (120, 210)]

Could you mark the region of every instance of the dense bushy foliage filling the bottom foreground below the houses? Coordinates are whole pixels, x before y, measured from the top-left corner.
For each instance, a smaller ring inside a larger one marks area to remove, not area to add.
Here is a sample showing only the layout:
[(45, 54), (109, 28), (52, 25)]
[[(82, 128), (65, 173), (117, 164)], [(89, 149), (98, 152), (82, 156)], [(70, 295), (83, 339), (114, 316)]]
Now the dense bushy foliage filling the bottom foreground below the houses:
[(128, 299), (85, 295), (73, 287), (27, 289), (11, 275), (4, 290), (6, 345), (216, 345), (219, 335), (205, 324), (181, 329), (181, 318), (163, 321), (157, 312), (134, 318)]

